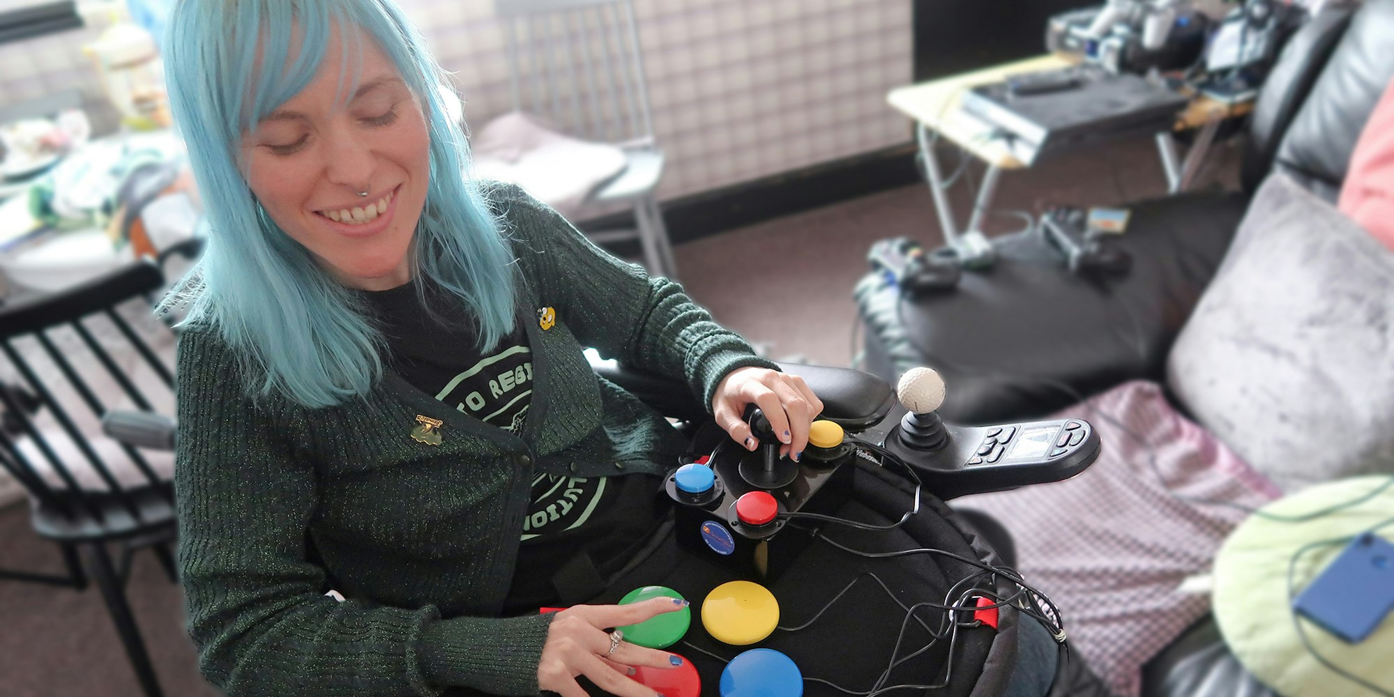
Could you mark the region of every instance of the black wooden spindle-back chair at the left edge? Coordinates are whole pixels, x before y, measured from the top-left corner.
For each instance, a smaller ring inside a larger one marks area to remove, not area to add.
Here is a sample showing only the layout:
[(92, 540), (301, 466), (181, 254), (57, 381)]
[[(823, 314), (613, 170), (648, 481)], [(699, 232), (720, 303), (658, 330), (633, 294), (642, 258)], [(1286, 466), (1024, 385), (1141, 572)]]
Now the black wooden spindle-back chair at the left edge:
[[(144, 548), (176, 580), (173, 463), (169, 453), (105, 436), (102, 420), (114, 408), (173, 408), (173, 330), (151, 314), (163, 286), (159, 266), (135, 262), (0, 307), (0, 466), (25, 488), (35, 533), (59, 546), (67, 566), (66, 576), (0, 570), (0, 579), (78, 590), (96, 581), (152, 697), (160, 687), (124, 588)], [(116, 560), (110, 546), (120, 549)]]

